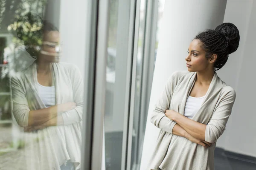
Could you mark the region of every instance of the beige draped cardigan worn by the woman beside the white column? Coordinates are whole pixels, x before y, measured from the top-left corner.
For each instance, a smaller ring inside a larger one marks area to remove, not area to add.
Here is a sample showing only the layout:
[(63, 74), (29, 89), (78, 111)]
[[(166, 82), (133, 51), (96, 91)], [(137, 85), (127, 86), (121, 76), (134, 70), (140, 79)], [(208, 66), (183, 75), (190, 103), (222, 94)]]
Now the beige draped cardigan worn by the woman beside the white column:
[[(151, 116), (160, 133), (148, 168), (152, 170), (214, 170), (214, 149), (172, 134), (176, 122), (165, 116), (170, 109), (184, 115), (186, 100), (195, 83), (196, 72), (177, 71), (168, 79)], [(192, 120), (207, 125), (205, 141), (216, 142), (225, 130), (235, 102), (236, 92), (215, 72), (204, 102)]]

